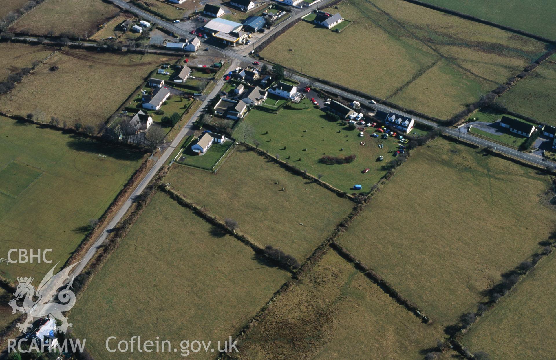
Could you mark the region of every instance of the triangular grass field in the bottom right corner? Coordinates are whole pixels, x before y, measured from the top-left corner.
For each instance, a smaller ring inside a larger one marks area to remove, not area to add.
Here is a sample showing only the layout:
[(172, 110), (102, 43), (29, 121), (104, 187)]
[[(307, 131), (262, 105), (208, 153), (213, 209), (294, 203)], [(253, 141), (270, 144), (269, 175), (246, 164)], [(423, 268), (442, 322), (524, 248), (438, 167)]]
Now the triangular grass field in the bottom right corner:
[(552, 358), (556, 351), (552, 341), (556, 307), (551, 296), (555, 283), (556, 260), (550, 256), (481, 317), (461, 342), (493, 359)]

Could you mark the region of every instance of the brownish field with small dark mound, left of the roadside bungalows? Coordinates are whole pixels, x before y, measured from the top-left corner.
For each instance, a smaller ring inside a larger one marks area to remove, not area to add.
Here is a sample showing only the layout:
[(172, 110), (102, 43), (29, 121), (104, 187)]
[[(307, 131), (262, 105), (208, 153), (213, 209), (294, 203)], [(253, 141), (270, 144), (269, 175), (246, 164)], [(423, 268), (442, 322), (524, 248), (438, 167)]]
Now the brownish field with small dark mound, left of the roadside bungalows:
[[(45, 4), (47, 4), (46, 2)], [(68, 126), (100, 126), (153, 68), (176, 58), (152, 54), (94, 53), (67, 49), (48, 59), (32, 76), (0, 97), (0, 110), (38, 121), (58, 117)], [(49, 71), (57, 66), (57, 71)]]

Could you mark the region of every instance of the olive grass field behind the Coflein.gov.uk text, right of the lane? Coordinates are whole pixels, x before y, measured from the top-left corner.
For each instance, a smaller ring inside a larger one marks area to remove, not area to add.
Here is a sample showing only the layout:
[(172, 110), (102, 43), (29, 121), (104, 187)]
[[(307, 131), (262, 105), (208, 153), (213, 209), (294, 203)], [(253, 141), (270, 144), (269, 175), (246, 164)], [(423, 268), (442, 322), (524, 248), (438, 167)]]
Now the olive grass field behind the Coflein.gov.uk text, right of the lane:
[[(73, 333), (87, 338), (96, 359), (183, 358), (180, 352), (108, 353), (105, 341), (158, 336), (178, 350), (182, 340), (223, 342), (289, 278), (157, 193), (71, 311)], [(215, 356), (201, 352), (188, 358)]]

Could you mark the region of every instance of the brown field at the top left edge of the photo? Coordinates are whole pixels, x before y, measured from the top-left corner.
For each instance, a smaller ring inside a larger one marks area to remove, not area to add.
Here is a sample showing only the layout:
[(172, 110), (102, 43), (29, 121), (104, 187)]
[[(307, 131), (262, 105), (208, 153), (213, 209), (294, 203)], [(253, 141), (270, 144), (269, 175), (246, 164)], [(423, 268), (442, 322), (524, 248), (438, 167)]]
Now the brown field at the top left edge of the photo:
[(48, 0), (21, 17), (10, 29), (32, 34), (71, 32), (88, 38), (119, 10), (102, 0)]

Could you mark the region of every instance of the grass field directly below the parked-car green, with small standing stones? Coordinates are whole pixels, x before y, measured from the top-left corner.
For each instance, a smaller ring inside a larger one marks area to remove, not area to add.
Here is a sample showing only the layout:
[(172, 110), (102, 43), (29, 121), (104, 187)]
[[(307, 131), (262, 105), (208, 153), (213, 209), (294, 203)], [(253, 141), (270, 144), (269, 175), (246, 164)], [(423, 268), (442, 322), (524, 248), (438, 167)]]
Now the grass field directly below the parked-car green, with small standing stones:
[(352, 202), (242, 147), (216, 174), (175, 165), (165, 181), (221, 219), (235, 219), (238, 231), (259, 246), (279, 247), (300, 262), (353, 208)]

